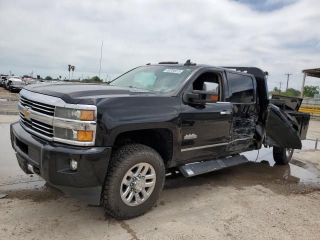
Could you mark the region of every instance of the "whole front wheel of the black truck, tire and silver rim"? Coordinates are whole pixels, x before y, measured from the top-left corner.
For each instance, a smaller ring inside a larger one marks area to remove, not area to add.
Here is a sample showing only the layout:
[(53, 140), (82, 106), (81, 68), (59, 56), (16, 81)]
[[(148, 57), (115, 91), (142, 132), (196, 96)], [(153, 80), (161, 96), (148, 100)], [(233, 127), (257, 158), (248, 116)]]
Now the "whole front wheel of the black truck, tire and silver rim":
[(163, 188), (164, 162), (142, 144), (128, 144), (112, 152), (101, 197), (105, 210), (128, 219), (150, 209)]

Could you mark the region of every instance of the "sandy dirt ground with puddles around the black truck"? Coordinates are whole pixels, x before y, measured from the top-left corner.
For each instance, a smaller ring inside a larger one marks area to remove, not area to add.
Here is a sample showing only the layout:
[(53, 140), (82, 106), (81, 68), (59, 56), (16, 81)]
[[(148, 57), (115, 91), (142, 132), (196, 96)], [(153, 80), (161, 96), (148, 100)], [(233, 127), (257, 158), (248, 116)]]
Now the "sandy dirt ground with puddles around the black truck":
[[(8, 112), (0, 115), (0, 197), (6, 195), (0, 239), (320, 239), (314, 141), (304, 140), (284, 166), (262, 148), (244, 153), (250, 162), (242, 165), (190, 178), (168, 175), (156, 205), (122, 221), (24, 174), (9, 141), (9, 122), (17, 116)], [(310, 122), (308, 136), (320, 138), (319, 122)]]

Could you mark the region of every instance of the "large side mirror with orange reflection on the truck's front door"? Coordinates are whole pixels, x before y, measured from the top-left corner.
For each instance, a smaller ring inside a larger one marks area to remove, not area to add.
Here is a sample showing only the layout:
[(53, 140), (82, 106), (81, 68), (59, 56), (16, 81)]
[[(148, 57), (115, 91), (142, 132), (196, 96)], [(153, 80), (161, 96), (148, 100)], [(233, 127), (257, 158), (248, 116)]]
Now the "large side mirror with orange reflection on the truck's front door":
[(219, 84), (214, 82), (203, 82), (202, 90), (186, 92), (189, 101), (193, 103), (215, 103), (218, 100)]

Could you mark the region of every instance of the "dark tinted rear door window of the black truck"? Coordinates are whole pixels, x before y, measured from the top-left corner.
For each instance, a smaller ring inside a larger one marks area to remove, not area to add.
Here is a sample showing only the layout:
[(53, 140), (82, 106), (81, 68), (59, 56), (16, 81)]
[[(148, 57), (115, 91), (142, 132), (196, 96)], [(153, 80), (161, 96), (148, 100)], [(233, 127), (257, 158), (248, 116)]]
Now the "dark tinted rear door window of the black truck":
[(253, 102), (253, 82), (250, 76), (237, 73), (228, 74), (228, 85), (231, 90), (230, 102)]

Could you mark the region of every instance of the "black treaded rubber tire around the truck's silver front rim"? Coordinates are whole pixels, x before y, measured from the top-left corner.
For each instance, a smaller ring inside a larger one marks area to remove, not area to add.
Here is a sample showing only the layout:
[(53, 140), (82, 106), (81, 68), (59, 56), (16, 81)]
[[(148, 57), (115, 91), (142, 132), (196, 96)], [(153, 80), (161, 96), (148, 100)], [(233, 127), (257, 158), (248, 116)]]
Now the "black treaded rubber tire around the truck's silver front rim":
[[(155, 171), (155, 185), (150, 196), (142, 203), (129, 206), (120, 196), (121, 181), (126, 172), (135, 164), (146, 162)], [(101, 200), (106, 212), (119, 219), (128, 219), (143, 214), (149, 210), (159, 197), (165, 179), (163, 159), (154, 149), (142, 144), (124, 145), (111, 154)]]

